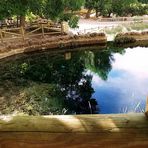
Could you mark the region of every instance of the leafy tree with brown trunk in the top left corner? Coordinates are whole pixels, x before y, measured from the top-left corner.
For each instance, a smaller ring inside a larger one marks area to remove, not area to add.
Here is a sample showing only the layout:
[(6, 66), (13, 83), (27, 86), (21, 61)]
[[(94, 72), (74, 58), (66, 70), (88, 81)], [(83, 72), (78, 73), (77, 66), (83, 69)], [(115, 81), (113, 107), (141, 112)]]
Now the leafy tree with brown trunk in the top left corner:
[(39, 14), (43, 0), (5, 0), (0, 2), (0, 19), (13, 15), (20, 17), (21, 26), (25, 25), (25, 16), (29, 12)]

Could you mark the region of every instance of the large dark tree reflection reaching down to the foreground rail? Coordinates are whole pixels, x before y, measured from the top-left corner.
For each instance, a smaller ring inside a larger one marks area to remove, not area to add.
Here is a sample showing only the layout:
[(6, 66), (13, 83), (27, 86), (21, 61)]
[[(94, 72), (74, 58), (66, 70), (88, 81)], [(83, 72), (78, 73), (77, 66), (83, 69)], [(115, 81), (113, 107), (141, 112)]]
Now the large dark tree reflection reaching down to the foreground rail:
[(71, 112), (95, 113), (97, 102), (91, 98), (92, 77), (84, 74), (84, 59), (80, 55), (76, 53), (70, 60), (62, 55), (33, 57), (23, 63), (25, 66), (21, 64), (21, 73), (26, 79), (57, 84)]

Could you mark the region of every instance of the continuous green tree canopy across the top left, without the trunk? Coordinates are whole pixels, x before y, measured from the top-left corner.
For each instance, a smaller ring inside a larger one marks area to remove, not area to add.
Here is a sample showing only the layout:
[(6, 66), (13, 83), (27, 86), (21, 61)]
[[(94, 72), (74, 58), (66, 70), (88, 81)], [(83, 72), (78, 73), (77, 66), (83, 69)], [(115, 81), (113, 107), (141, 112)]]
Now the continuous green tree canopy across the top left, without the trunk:
[(56, 21), (70, 20), (70, 24), (76, 26), (73, 11), (79, 10), (83, 4), (84, 0), (5, 0), (0, 1), (0, 19), (33, 13)]

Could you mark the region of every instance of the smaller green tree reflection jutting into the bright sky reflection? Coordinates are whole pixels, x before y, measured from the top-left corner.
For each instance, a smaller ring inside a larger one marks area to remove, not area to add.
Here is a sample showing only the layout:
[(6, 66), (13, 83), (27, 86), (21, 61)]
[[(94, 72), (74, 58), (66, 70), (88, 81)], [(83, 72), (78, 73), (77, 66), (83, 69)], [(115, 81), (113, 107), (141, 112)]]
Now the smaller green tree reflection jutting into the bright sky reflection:
[(107, 80), (108, 73), (112, 70), (114, 53), (124, 54), (125, 50), (124, 48), (114, 47), (111, 43), (104, 50), (85, 51), (82, 56), (85, 59), (86, 69), (98, 74), (101, 79)]

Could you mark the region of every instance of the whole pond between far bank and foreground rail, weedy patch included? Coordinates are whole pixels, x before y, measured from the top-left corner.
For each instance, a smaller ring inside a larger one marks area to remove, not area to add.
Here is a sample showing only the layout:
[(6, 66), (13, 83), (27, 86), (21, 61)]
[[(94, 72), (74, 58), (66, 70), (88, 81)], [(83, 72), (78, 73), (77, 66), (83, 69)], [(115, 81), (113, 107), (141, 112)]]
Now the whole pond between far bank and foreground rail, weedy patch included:
[(0, 113), (143, 112), (147, 85), (147, 47), (24, 55), (0, 62)]

